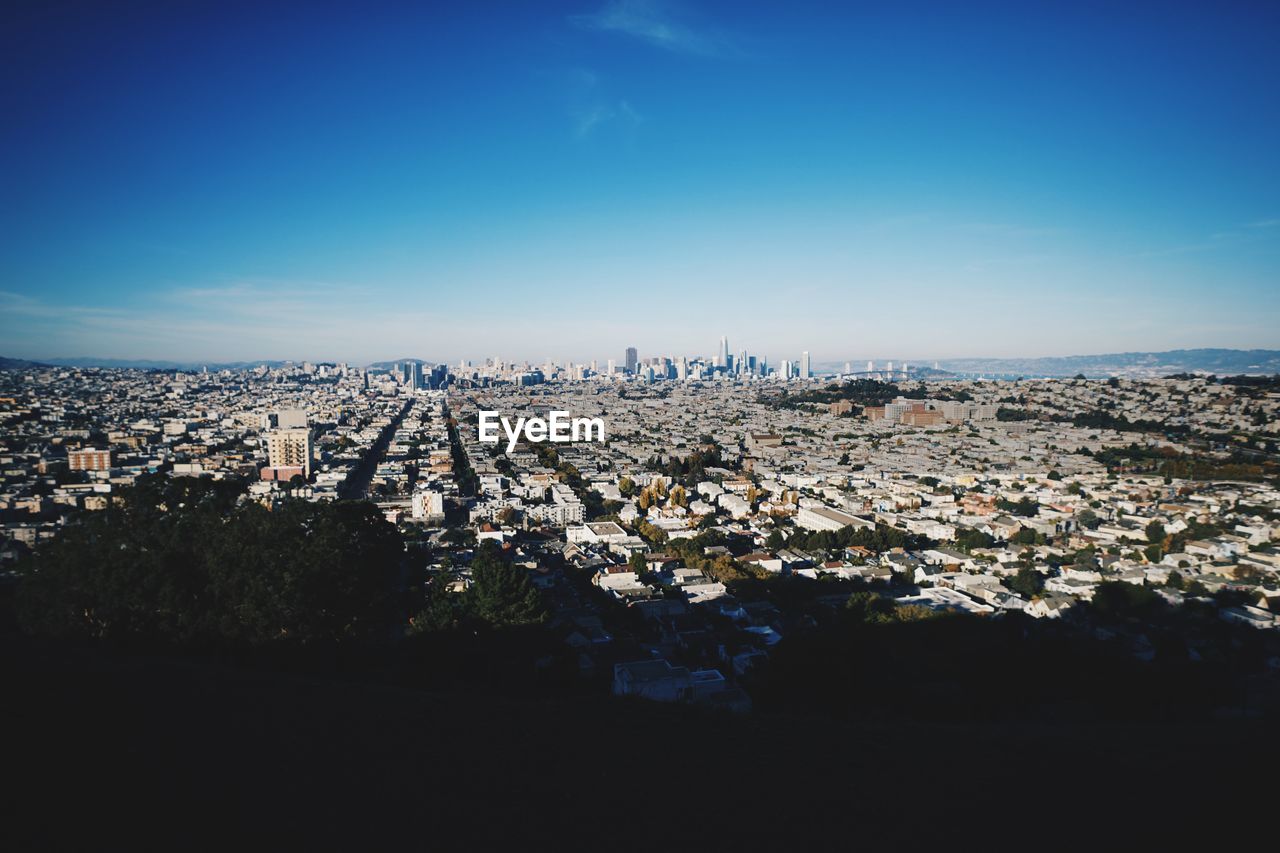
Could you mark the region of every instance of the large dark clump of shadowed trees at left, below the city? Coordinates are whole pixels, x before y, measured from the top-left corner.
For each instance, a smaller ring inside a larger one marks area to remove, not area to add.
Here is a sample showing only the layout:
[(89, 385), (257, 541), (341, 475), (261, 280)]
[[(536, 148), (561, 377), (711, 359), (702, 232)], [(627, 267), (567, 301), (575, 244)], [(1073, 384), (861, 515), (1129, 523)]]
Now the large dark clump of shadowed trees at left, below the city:
[(28, 630), (262, 646), (381, 643), (399, 625), (403, 542), (371, 503), (227, 510), (218, 489), (147, 483), (123, 497), (24, 567)]

